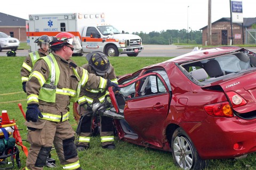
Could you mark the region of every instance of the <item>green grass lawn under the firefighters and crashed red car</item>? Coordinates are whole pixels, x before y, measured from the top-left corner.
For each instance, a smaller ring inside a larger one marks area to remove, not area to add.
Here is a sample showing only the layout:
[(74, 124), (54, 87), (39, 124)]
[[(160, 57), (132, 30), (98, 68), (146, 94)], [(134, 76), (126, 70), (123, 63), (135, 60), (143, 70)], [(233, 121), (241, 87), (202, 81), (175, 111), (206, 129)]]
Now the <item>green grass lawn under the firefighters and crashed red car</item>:
[[(23, 57), (7, 57), (0, 56), (0, 110), (7, 110), (10, 119), (16, 120), (20, 134), (23, 140), (27, 138), (26, 126), (24, 125), (25, 119), (23, 118), (21, 111), (18, 108), (18, 103), (21, 103), (23, 109), (26, 111), (26, 94), (22, 91), (20, 80), (20, 68), (22, 65)], [(132, 73), (142, 67), (162, 62), (170, 58), (150, 57), (150, 58), (133, 58), (133, 57), (113, 57), (109, 58), (110, 63), (113, 64), (116, 75), (121, 76), (123, 74)], [(78, 66), (86, 63), (85, 57), (75, 56), (73, 60), (76, 61)], [(72, 107), (70, 107), (72, 113)], [(70, 124), (76, 129), (76, 122), (70, 114)], [(29, 144), (23, 141), (23, 144), (29, 148)], [(100, 170), (165, 170), (173, 169), (178, 170), (180, 168), (175, 167), (173, 164), (172, 155), (170, 152), (144, 148), (138, 145), (130, 144), (118, 140), (115, 137), (115, 150), (106, 150), (101, 148), (100, 137), (92, 137), (90, 149), (84, 152), (79, 152), (79, 161), (83, 169), (100, 169)], [(221, 144), (221, 143), (217, 143)], [(26, 165), (26, 156), (20, 150), (20, 157), (22, 168)], [(51, 152), (52, 158), (57, 162), (57, 170), (62, 169), (55, 150)], [(221, 159), (210, 160), (209, 168), (213, 170), (226, 170), (226, 169), (256, 169), (256, 153), (252, 153), (244, 159)], [(0, 166), (1, 168), (1, 166)], [(17, 168), (15, 163), (14, 169)], [(50, 169), (50, 168), (44, 168)]]

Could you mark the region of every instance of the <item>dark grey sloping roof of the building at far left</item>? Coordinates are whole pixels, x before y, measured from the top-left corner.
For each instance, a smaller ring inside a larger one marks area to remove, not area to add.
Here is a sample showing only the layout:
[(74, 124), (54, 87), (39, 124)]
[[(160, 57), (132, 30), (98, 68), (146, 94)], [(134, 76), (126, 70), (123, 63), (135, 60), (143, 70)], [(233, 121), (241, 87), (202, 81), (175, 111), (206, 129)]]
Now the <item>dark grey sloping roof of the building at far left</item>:
[(25, 27), (26, 26), (26, 20), (0, 12), (0, 27), (1, 26), (16, 26), (16, 27), (17, 26), (22, 26), (22, 27)]

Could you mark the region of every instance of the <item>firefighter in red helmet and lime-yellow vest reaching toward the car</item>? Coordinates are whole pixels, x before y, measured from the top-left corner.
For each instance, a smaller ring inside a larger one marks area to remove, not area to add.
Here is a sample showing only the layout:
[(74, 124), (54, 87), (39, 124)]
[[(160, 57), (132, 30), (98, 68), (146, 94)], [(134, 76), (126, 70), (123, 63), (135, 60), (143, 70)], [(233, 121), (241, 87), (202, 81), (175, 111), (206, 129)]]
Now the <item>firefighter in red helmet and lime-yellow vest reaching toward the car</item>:
[(37, 60), (26, 84), (25, 125), (30, 148), (25, 169), (43, 169), (54, 145), (62, 168), (78, 170), (81, 167), (68, 106), (77, 101), (81, 87), (105, 89), (117, 85), (76, 66), (70, 58), (73, 51), (82, 48), (73, 34), (61, 32), (51, 38), (50, 45), (52, 53)]

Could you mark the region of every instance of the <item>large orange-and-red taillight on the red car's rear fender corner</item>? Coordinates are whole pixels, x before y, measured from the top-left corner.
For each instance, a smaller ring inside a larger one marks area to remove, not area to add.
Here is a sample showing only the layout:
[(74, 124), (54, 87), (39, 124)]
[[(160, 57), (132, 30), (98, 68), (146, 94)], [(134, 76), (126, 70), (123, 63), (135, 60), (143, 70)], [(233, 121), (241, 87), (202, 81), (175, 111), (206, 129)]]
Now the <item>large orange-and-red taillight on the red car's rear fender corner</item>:
[(233, 111), (229, 102), (221, 102), (204, 106), (204, 110), (210, 116), (233, 117)]

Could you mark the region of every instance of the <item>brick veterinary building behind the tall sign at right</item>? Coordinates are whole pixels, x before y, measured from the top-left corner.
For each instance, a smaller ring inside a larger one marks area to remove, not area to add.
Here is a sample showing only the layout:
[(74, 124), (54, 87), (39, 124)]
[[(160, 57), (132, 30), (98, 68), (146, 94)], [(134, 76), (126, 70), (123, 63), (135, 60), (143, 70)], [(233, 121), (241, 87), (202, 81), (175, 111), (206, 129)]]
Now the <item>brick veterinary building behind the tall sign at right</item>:
[[(232, 23), (233, 27), (233, 45), (244, 44), (246, 29), (252, 29), (256, 23), (256, 18), (244, 18), (242, 23)], [(207, 41), (207, 26), (201, 28), (202, 43)], [(244, 34), (243, 34), (244, 32)], [(212, 23), (212, 45), (229, 45), (231, 38), (230, 18), (221, 18)]]

